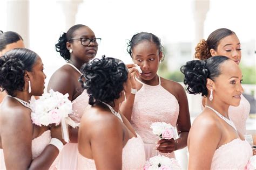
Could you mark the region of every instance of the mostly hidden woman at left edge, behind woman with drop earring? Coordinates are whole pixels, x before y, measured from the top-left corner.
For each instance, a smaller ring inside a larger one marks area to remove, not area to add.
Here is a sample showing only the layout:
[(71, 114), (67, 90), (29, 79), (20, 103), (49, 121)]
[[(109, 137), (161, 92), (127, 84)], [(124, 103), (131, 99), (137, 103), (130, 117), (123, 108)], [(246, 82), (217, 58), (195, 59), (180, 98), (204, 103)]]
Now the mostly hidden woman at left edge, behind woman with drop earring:
[[(24, 48), (22, 37), (19, 36), (19, 34), (16, 32), (0, 31), (0, 57), (4, 55), (4, 53), (14, 48)], [(2, 102), (5, 96), (6, 96), (6, 92), (0, 91), (0, 103)]]

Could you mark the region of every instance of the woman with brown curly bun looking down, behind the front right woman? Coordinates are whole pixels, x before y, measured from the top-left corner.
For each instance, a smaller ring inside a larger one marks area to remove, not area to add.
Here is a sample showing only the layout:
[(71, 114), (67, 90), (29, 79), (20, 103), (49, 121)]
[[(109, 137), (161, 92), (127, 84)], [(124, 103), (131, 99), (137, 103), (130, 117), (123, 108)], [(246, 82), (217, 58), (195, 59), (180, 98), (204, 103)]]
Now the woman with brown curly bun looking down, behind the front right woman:
[[(211, 56), (224, 55), (232, 59), (239, 65), (241, 60), (241, 44), (237, 35), (228, 29), (218, 29), (213, 31), (207, 38), (202, 39), (196, 47), (195, 58), (206, 60)], [(206, 105), (206, 98), (203, 98), (203, 106)], [(240, 104), (236, 107), (230, 106), (228, 114), (238, 131), (245, 135), (246, 140), (251, 145), (256, 145), (256, 136), (246, 134), (246, 120), (250, 113), (250, 103), (241, 95)]]

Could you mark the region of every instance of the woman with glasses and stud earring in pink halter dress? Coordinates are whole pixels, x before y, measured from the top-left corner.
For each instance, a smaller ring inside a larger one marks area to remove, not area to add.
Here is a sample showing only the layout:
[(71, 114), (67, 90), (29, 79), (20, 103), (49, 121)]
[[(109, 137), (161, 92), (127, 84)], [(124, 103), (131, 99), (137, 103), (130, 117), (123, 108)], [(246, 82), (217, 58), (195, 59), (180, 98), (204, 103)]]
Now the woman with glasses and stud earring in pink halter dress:
[[(80, 122), (89, 99), (86, 90), (83, 90), (78, 82), (78, 77), (81, 76), (80, 68), (95, 57), (100, 40), (88, 26), (78, 24), (63, 33), (56, 44), (56, 51), (67, 63), (53, 73), (48, 90), (53, 89), (62, 94), (69, 94), (75, 111), (70, 117), (76, 123)], [(70, 126), (70, 132), (70, 143), (64, 146), (58, 157), (59, 162), (57, 160), (55, 162), (58, 169), (77, 169), (78, 128)]]

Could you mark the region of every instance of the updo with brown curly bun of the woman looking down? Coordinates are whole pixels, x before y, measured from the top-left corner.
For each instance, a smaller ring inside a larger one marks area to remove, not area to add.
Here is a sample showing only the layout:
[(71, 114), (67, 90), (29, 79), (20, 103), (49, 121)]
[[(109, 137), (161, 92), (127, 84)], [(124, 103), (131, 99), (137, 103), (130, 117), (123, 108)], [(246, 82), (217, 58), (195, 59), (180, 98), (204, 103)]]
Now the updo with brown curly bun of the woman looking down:
[(210, 53), (210, 49), (214, 49), (215, 51), (217, 51), (220, 40), (232, 34), (235, 33), (228, 29), (218, 29), (213, 31), (208, 36), (207, 40), (201, 39), (200, 42), (197, 44), (194, 57), (199, 60), (206, 60), (210, 58), (212, 56)]

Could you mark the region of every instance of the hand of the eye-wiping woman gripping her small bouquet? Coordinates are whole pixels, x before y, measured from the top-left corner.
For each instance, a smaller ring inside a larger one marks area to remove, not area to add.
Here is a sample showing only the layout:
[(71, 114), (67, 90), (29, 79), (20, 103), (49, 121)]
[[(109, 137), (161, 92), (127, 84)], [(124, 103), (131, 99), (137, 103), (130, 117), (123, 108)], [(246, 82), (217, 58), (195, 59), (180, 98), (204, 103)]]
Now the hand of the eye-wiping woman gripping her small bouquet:
[(176, 142), (172, 139), (160, 139), (158, 145), (156, 146), (157, 150), (161, 153), (172, 153), (175, 151)]

